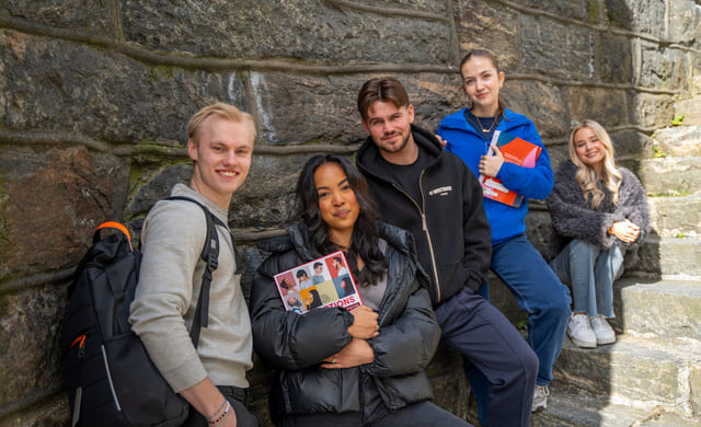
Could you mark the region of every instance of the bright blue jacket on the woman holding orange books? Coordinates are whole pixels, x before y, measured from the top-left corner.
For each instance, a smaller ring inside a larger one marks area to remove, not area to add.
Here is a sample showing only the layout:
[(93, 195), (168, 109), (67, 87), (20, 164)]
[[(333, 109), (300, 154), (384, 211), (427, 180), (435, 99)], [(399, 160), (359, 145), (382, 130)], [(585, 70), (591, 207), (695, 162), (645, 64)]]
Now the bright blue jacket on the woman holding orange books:
[[(496, 175), (506, 188), (525, 197), (520, 207), (513, 208), (491, 198), (483, 198), (484, 211), (492, 228), (492, 245), (524, 233), (528, 214), (527, 199), (544, 199), (553, 186), (550, 157), (540, 140), (536, 125), (528, 117), (507, 108), (496, 130), (538, 145), (542, 147), (542, 151), (536, 168), (522, 168), (505, 162)], [(437, 134), (448, 141), (446, 150), (456, 153), (475, 176), (480, 176), (480, 159), (486, 154), (489, 142), (482, 139), (464, 118), (464, 108), (445, 117), (438, 126)]]

